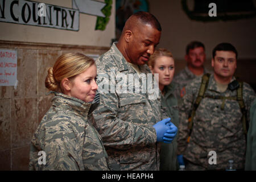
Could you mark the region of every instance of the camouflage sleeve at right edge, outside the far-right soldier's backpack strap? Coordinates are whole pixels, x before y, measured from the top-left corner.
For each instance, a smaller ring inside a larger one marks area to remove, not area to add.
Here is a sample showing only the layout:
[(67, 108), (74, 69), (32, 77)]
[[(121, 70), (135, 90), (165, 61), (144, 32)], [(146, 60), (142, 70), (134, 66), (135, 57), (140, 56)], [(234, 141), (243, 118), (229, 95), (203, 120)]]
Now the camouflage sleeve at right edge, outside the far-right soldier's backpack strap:
[(255, 98), (255, 92), (253, 88), (246, 82), (243, 82), (243, 101), (245, 102), (246, 117), (250, 122), (250, 107)]

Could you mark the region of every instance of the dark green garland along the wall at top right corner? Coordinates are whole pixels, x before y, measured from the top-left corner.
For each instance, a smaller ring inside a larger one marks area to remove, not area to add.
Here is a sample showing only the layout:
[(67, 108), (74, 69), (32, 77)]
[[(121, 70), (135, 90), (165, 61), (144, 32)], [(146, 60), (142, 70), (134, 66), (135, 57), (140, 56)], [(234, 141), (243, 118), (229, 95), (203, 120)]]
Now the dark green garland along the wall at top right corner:
[(228, 20), (238, 20), (238, 19), (244, 19), (244, 18), (254, 18), (256, 15), (256, 12), (253, 14), (240, 14), (240, 15), (217, 15), (217, 16), (199, 16), (194, 15), (193, 11), (189, 11), (187, 6), (187, 0), (181, 0), (181, 5), (183, 7), (183, 10), (188, 15), (188, 17), (192, 20), (202, 21), (202, 22), (214, 22), (218, 20), (228, 21)]

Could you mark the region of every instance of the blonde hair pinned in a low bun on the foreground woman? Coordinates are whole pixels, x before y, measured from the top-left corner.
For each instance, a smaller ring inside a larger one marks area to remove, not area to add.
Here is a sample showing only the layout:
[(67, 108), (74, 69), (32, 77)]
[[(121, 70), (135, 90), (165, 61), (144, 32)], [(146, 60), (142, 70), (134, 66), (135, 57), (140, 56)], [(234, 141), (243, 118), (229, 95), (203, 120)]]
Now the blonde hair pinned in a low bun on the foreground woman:
[(45, 81), (46, 88), (62, 92), (61, 81), (64, 78), (72, 79), (93, 64), (95, 64), (95, 61), (82, 53), (72, 52), (61, 55), (54, 66), (48, 69)]

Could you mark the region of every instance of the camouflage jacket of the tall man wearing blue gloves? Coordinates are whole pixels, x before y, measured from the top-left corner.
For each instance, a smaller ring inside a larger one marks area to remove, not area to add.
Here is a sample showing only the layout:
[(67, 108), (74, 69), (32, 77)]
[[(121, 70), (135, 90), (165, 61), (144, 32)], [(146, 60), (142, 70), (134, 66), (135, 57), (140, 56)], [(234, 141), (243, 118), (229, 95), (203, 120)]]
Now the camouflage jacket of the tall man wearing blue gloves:
[[(128, 81), (129, 74), (132, 77), (137, 73), (115, 44), (100, 56), (96, 64), (100, 102), (93, 117), (112, 168), (159, 170), (160, 147), (152, 127), (162, 120), (159, 89), (158, 97), (150, 99), (148, 90), (142, 93), (145, 84), (142, 78)], [(139, 69), (142, 73), (151, 73), (147, 65), (139, 66)], [(137, 88), (141, 92), (135, 92)]]

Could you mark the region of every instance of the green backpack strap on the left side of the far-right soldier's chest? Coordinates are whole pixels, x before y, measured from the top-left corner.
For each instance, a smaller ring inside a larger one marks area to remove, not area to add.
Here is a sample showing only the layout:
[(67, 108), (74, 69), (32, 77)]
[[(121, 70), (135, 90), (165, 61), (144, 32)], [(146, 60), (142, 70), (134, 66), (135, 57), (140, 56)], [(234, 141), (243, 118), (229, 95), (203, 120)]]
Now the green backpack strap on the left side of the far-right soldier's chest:
[(189, 119), (188, 119), (188, 129), (190, 130), (190, 134), (191, 134), (192, 127), (193, 127), (193, 118), (195, 117), (197, 107), (199, 106), (202, 98), (204, 97), (205, 90), (206, 90), (206, 88), (208, 86), (209, 77), (210, 77), (209, 73), (205, 73), (203, 75), (203, 77), (202, 77), (199, 93), (197, 95), (195, 103), (193, 104), (193, 109), (192, 109), (192, 112), (191, 112), (191, 117), (189, 117)]

